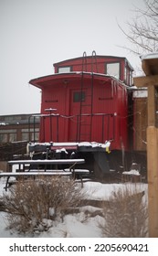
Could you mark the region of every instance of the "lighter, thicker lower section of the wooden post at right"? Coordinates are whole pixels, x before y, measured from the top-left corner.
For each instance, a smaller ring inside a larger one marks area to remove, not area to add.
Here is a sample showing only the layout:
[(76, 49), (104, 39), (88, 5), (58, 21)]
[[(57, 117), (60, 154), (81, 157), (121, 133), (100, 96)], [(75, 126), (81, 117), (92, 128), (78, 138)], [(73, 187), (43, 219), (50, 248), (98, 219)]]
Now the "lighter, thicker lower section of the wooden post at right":
[(149, 237), (158, 238), (158, 129), (147, 128)]

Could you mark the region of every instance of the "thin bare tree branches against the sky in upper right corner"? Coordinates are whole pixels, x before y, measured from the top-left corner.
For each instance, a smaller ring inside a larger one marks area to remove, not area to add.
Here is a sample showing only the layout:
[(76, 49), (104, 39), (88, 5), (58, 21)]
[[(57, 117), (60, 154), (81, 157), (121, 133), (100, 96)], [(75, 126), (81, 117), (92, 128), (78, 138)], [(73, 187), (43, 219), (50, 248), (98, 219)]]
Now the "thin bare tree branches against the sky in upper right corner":
[(128, 22), (128, 32), (119, 24), (122, 33), (132, 43), (123, 47), (136, 55), (158, 50), (158, 0), (143, 0), (145, 8), (135, 8), (135, 16)]

